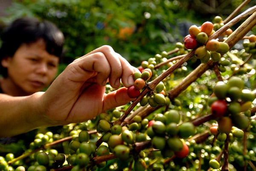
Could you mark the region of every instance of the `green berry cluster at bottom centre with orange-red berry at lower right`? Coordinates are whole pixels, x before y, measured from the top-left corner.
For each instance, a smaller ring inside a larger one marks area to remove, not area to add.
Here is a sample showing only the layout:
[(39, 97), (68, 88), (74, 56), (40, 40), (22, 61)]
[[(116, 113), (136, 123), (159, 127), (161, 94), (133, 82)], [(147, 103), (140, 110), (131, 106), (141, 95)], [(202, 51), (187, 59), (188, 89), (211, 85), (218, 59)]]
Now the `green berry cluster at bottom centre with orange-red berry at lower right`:
[(190, 122), (180, 123), (180, 114), (171, 109), (164, 114), (156, 114), (148, 122), (147, 135), (151, 138), (154, 149), (159, 149), (163, 157), (184, 158), (189, 154), (189, 147), (182, 138), (195, 134), (195, 126)]

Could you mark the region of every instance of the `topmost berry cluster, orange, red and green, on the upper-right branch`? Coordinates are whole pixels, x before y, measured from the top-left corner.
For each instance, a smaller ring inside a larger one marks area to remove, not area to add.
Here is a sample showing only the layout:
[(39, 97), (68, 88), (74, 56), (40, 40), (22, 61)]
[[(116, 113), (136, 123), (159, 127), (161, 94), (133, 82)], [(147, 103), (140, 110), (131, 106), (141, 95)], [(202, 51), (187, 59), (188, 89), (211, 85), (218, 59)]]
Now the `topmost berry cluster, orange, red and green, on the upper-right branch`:
[(217, 62), (221, 59), (221, 54), (229, 51), (229, 46), (225, 42), (219, 42), (217, 39), (208, 37), (215, 31), (212, 22), (204, 22), (200, 27), (191, 25), (189, 34), (184, 38), (184, 46), (187, 49), (195, 49), (195, 57), (206, 63), (209, 59)]

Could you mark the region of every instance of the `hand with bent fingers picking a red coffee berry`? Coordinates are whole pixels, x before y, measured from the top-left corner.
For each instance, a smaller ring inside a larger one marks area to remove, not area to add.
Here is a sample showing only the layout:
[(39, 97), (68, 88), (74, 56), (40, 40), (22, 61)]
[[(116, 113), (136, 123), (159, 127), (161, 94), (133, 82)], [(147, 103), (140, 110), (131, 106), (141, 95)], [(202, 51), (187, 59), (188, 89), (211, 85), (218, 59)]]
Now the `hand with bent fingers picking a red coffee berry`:
[[(131, 101), (127, 88), (138, 71), (110, 46), (102, 46), (76, 59), (55, 79), (43, 94), (45, 117), (53, 125), (79, 123), (107, 109)], [(105, 85), (125, 87), (105, 94)]]

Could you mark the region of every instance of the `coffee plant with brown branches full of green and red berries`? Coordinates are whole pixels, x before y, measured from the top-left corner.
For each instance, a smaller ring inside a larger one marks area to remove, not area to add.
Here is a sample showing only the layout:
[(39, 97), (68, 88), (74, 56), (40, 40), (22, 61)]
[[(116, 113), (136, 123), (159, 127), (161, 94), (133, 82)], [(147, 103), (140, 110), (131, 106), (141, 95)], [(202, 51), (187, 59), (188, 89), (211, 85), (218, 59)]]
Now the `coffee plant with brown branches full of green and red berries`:
[(134, 101), (1, 145), (0, 170), (256, 170), (256, 6), (235, 17), (240, 9), (142, 61), (127, 89)]

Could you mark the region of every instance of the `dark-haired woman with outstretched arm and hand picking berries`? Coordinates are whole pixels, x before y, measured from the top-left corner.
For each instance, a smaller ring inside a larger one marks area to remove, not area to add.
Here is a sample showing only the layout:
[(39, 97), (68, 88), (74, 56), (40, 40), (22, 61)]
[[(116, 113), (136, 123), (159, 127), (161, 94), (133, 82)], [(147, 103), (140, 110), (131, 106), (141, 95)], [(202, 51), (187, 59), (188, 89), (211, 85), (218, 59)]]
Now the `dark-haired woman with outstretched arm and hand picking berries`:
[[(31, 33), (34, 36), (29, 36)], [(41, 126), (83, 122), (133, 100), (126, 87), (134, 83), (137, 69), (110, 46), (76, 59), (52, 82), (64, 41), (53, 24), (18, 19), (3, 33), (2, 40), (0, 137)], [(122, 81), (125, 87), (105, 94), (108, 81), (114, 88)]]

